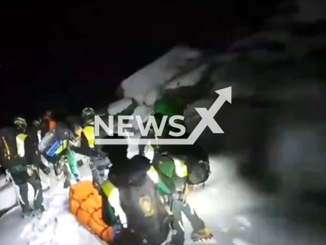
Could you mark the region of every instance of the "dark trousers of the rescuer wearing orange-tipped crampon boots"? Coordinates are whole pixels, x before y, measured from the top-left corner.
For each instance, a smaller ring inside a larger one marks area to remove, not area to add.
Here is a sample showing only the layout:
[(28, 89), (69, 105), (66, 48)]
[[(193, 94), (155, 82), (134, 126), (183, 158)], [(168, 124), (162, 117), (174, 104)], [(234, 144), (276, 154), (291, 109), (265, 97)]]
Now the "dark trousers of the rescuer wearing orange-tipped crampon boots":
[(172, 237), (173, 245), (183, 245), (184, 243), (184, 228), (182, 221), (182, 213), (191, 223), (193, 230), (198, 231), (205, 228), (205, 224), (201, 218), (198, 217), (195, 210), (189, 206), (189, 204), (183, 205), (182, 201), (172, 201), (172, 212), (174, 214), (173, 228), (177, 231)]

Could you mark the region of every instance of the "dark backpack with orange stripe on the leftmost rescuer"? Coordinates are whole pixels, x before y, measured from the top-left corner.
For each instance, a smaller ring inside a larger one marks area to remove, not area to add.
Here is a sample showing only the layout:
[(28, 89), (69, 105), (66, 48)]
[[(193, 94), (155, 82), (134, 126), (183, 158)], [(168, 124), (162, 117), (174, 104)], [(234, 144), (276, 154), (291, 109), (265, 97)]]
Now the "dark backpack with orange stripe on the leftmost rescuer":
[(14, 128), (3, 128), (0, 130), (0, 162), (8, 168), (13, 160), (18, 158), (16, 131)]

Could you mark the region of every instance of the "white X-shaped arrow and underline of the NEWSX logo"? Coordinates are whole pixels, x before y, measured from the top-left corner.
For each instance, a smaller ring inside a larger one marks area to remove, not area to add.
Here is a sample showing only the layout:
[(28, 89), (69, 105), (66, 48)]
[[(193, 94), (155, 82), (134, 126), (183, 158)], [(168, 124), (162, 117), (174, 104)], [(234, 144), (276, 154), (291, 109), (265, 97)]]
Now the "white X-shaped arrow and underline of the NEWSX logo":
[[(214, 120), (214, 116), (227, 101), (231, 104), (232, 87), (216, 90), (220, 96), (214, 104), (207, 110), (206, 108), (195, 108), (202, 117), (201, 121), (187, 139), (129, 139), (129, 144), (194, 144), (206, 127), (209, 127), (214, 134), (224, 134), (221, 127)], [(95, 144), (125, 144), (124, 139), (95, 139)]]

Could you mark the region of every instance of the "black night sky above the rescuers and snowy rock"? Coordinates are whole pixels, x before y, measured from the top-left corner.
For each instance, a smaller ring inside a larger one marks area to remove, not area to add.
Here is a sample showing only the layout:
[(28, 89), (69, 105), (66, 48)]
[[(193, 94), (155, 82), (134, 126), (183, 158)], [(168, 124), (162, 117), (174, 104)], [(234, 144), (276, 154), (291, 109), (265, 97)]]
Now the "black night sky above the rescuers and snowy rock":
[(275, 2), (10, 1), (0, 8), (0, 123), (107, 105), (122, 79), (173, 45), (223, 51)]

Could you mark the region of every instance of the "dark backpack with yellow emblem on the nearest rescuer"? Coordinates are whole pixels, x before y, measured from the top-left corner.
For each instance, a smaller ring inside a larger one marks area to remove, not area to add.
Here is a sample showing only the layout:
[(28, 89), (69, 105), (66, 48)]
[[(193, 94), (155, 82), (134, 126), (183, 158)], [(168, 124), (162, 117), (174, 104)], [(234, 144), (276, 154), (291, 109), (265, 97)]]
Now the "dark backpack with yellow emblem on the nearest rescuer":
[(170, 232), (169, 214), (160, 200), (156, 184), (146, 174), (151, 164), (139, 155), (128, 163), (129, 168), (121, 166), (125, 171), (115, 169), (115, 180), (109, 177), (119, 189), (128, 227), (138, 234), (141, 241), (146, 239), (148, 244), (161, 244)]

